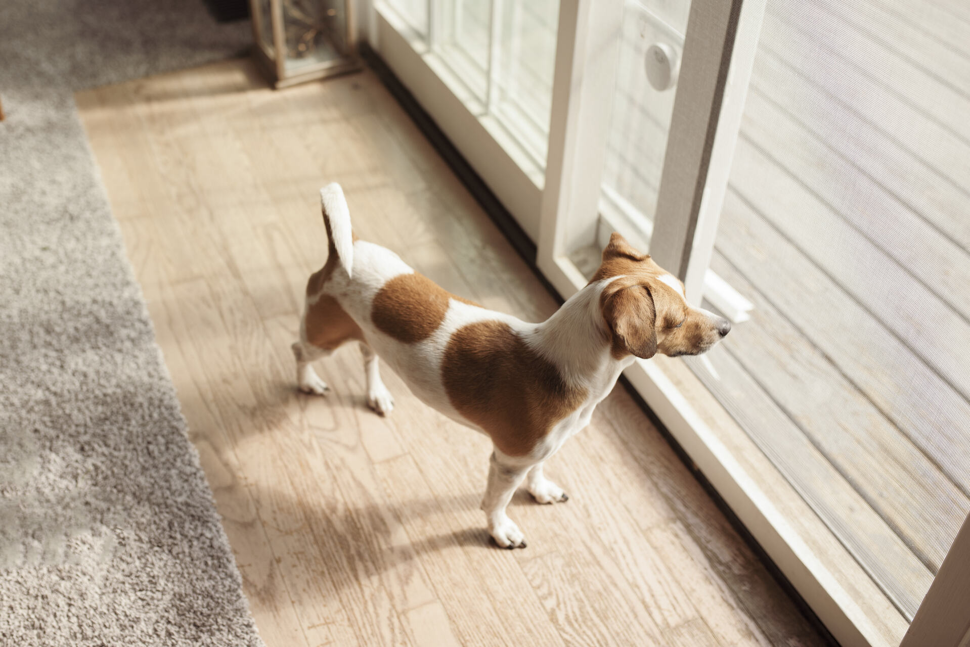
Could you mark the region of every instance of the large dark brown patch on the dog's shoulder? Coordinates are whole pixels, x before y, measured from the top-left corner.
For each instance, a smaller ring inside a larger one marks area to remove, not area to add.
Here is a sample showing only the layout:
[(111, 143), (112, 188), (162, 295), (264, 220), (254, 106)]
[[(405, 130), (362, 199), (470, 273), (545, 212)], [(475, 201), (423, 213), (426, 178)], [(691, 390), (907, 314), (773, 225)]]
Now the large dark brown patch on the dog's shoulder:
[(441, 378), (452, 406), (509, 456), (529, 454), (587, 395), (501, 321), (457, 330), (445, 348)]

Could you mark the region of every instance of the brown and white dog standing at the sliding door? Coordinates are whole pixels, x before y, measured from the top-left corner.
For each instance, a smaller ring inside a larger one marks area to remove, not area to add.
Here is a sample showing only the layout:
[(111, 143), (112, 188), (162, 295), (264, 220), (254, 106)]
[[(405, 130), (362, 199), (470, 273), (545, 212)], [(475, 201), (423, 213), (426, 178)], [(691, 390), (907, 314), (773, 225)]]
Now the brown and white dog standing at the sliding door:
[(526, 546), (505, 514), (523, 478), (535, 501), (568, 499), (542, 463), (589, 424), (634, 358), (696, 355), (730, 330), (727, 319), (690, 307), (683, 283), (619, 234), (586, 287), (546, 321), (527, 323), (449, 294), (393, 251), (357, 240), (339, 184), (321, 189), (320, 199), (330, 255), (309, 277), (293, 344), (300, 388), (325, 393), (310, 362), (356, 340), (375, 411), (394, 406), (381, 357), (425, 404), (491, 437), (481, 507), (503, 547)]

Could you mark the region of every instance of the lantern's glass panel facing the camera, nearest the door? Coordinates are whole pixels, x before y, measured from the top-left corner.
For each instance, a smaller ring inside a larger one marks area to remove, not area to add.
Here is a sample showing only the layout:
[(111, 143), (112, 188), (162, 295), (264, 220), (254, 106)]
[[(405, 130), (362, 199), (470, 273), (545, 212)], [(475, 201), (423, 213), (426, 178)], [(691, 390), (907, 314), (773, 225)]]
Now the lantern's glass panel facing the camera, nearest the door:
[(287, 73), (347, 53), (344, 0), (282, 0)]

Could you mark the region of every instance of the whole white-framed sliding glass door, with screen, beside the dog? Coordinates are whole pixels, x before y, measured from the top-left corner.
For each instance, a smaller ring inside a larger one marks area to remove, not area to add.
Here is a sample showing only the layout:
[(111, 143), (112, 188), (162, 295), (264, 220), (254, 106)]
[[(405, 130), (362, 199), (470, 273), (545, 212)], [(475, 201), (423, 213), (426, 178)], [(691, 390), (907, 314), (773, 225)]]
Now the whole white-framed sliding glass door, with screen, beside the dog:
[(708, 356), (627, 376), (840, 642), (895, 647), (932, 617), (934, 577), (970, 562), (970, 540), (945, 562), (970, 510), (963, 5), (384, 0), (372, 18), (564, 297), (620, 231), (734, 322)]

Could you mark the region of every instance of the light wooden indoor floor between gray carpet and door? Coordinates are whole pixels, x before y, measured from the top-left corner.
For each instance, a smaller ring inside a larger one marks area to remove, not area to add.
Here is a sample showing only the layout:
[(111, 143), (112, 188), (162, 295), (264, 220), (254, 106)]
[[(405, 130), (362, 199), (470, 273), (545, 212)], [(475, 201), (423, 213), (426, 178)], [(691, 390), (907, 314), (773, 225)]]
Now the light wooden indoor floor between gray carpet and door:
[(555, 302), (365, 72), (273, 91), (247, 61), (78, 95), (192, 441), (270, 647), (821, 645), (623, 389), (552, 459), (571, 495), (519, 493), (529, 548), (478, 510), (487, 441), (357, 348), (298, 394), (290, 342), (339, 180), (365, 239), (532, 320)]

